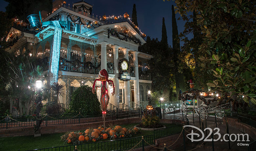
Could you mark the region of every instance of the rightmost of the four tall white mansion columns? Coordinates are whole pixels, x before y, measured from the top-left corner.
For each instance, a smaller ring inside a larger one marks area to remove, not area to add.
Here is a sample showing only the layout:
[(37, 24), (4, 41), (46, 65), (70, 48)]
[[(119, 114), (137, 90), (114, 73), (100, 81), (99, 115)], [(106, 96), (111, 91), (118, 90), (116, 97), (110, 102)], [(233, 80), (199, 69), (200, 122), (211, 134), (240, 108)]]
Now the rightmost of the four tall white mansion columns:
[(134, 81), (134, 102), (139, 105), (139, 69), (138, 69), (138, 54), (139, 52), (133, 53), (134, 62), (134, 73), (136, 80)]

